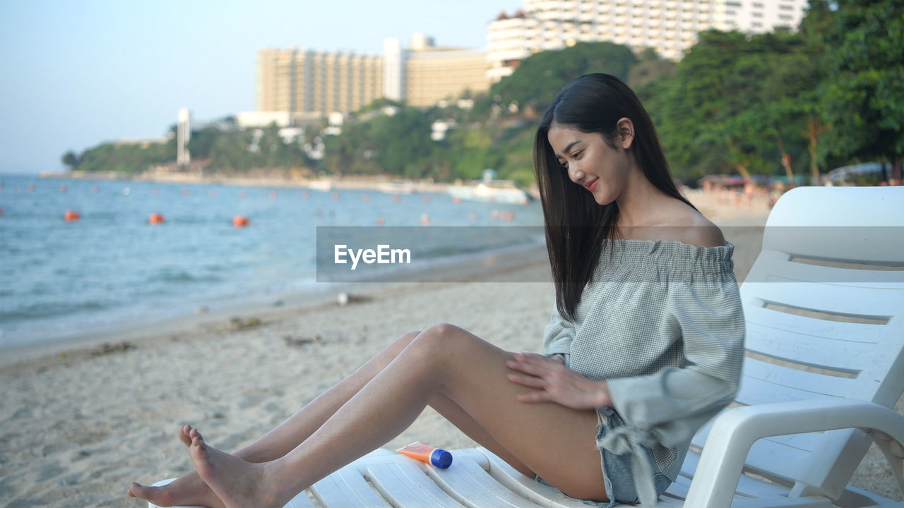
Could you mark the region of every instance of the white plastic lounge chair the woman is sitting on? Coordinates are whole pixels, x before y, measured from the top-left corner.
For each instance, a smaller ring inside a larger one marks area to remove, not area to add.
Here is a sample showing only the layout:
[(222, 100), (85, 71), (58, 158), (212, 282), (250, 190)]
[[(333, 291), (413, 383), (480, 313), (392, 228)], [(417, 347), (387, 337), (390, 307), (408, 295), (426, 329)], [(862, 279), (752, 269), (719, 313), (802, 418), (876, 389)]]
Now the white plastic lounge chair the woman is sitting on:
[[(904, 507), (847, 486), (875, 441), (904, 492), (904, 417), (890, 409), (904, 390), (902, 231), (904, 187), (805, 187), (777, 202), (741, 287), (739, 396), (658, 506)], [(377, 450), (287, 507), (587, 506), (483, 448), (453, 456), (439, 470)]]

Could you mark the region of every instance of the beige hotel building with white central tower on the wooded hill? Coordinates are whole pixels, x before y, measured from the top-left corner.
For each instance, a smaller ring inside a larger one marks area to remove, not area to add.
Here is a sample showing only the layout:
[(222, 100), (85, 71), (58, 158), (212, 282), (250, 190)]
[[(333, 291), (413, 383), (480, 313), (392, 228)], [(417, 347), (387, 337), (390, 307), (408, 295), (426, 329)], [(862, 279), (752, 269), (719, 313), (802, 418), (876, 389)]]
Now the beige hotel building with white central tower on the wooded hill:
[(362, 108), (374, 99), (431, 107), (466, 89), (486, 91), (484, 50), (443, 48), (415, 34), (409, 48), (387, 39), (381, 55), (261, 49), (257, 62), (257, 111), (240, 113), (246, 126), (313, 122), (333, 112)]

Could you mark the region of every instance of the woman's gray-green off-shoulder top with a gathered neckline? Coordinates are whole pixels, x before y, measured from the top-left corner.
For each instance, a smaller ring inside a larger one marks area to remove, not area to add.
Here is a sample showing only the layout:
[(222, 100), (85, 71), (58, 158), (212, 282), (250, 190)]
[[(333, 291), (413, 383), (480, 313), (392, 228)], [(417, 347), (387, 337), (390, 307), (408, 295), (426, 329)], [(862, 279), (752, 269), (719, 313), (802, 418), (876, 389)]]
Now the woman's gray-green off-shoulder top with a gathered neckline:
[(731, 255), (734, 246), (695, 247), (676, 240), (606, 240), (584, 288), (577, 321), (553, 306), (545, 354), (606, 380), (625, 426), (597, 445), (631, 453), (636, 490), (654, 504), (652, 465), (675, 480), (694, 432), (738, 390), (744, 313)]

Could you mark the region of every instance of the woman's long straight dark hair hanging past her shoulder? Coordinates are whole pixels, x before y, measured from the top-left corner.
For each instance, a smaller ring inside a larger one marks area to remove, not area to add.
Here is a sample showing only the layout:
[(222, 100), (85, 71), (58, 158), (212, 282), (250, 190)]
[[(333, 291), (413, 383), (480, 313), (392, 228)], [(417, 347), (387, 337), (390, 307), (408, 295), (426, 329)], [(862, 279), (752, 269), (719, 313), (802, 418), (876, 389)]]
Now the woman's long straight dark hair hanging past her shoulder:
[(660, 191), (688, 202), (675, 187), (653, 121), (634, 91), (609, 74), (588, 74), (571, 81), (552, 99), (533, 140), (533, 170), (540, 187), (556, 306), (560, 315), (577, 321), (584, 287), (593, 277), (604, 242), (616, 237), (618, 205), (599, 205), (593, 195), (571, 182), (549, 141), (553, 123), (598, 133), (617, 148), (617, 122), (630, 118), (634, 140), (628, 150), (650, 183)]

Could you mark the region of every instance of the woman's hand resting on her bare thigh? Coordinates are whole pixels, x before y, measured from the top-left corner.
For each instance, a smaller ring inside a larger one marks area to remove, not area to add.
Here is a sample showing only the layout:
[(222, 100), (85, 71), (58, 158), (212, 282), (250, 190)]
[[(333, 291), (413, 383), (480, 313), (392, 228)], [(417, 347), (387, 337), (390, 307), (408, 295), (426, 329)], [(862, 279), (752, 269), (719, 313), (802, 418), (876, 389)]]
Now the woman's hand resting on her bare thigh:
[(508, 379), (533, 388), (521, 393), (522, 402), (555, 402), (571, 409), (594, 409), (612, 405), (606, 381), (592, 381), (566, 367), (560, 359), (535, 353), (515, 353), (505, 362)]

